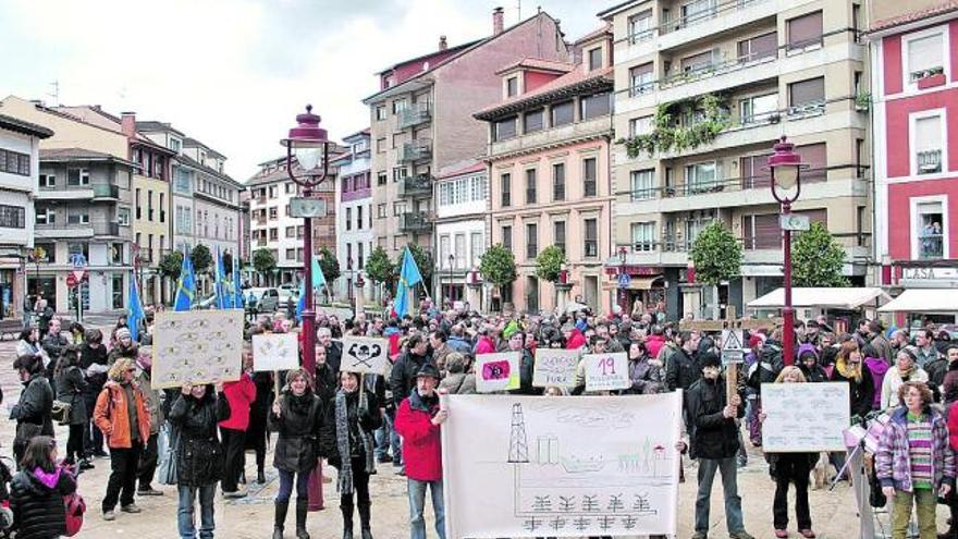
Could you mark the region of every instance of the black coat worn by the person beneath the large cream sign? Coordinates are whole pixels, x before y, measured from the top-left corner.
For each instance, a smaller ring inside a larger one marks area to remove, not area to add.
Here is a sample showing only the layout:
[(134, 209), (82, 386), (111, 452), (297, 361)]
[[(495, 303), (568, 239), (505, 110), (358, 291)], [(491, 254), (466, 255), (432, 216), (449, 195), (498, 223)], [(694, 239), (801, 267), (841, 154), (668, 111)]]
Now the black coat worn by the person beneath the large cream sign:
[(202, 399), (182, 393), (170, 408), (170, 424), (180, 429), (176, 446), (176, 483), (181, 487), (214, 485), (223, 478), (223, 448), (217, 438), (217, 397), (208, 387)]

